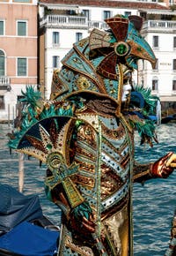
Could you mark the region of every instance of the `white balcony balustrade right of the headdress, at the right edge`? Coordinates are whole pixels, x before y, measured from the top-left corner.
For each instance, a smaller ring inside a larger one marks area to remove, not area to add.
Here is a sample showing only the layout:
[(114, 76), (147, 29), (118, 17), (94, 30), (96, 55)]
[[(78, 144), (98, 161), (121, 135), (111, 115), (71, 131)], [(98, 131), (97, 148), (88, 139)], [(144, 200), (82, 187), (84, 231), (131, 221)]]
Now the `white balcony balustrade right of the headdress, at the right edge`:
[(143, 30), (176, 30), (176, 21), (172, 20), (146, 20), (143, 22)]

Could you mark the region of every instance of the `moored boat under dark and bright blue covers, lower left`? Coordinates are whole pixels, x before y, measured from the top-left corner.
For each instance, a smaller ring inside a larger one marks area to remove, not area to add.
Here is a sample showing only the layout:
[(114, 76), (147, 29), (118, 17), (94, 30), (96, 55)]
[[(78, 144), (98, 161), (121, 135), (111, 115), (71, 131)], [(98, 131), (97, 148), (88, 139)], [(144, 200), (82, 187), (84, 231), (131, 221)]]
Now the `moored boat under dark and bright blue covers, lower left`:
[(60, 228), (43, 215), (38, 195), (0, 184), (0, 255), (56, 256)]

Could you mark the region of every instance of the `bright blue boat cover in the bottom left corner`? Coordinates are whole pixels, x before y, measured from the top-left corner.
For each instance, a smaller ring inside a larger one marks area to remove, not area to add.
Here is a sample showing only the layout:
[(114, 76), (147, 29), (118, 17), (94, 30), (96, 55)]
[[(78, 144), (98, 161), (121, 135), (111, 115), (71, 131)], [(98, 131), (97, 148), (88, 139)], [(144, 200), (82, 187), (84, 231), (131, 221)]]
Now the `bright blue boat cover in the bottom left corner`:
[(57, 250), (57, 239), (57, 231), (22, 222), (0, 237), (0, 255), (7, 250), (11, 254), (3, 255), (53, 256)]

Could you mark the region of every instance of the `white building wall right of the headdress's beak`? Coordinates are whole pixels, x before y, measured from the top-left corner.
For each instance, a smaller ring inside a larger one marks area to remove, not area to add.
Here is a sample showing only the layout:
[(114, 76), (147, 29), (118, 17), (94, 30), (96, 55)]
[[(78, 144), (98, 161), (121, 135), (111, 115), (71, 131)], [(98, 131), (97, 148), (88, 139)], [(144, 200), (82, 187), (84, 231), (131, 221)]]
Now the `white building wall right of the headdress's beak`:
[[(148, 23), (149, 24), (149, 23)], [(173, 47), (173, 38), (175, 37), (175, 21), (162, 21), (158, 28), (148, 26), (144, 29), (143, 35), (150, 43), (158, 59), (158, 67), (150, 69), (150, 64), (145, 62), (139, 66), (139, 83), (142, 79), (145, 86), (152, 89), (152, 80), (158, 80), (158, 89), (153, 90), (161, 102), (176, 102), (176, 90), (172, 88), (172, 81), (176, 80), (176, 70), (173, 70), (173, 59), (176, 59), (176, 49)], [(153, 45), (153, 37), (158, 36), (158, 47)]]

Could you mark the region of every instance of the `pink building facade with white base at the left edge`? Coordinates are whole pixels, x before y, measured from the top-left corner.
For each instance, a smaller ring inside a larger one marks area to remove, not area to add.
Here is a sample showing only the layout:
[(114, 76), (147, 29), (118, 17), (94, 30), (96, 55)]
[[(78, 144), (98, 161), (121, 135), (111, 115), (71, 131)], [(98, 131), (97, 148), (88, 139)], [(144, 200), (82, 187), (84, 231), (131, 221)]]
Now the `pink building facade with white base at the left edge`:
[[(18, 97), (26, 85), (37, 86), (37, 3), (0, 2), (0, 20), (4, 20), (4, 35), (0, 35), (0, 50), (5, 55), (5, 77), (10, 80), (10, 90), (0, 84), (0, 96), (4, 96), (4, 109), (0, 120), (12, 120), (17, 112)], [(26, 36), (18, 36), (17, 21), (26, 21)], [(26, 58), (26, 76), (18, 76), (18, 57)], [(0, 77), (1, 79), (1, 77)]]

